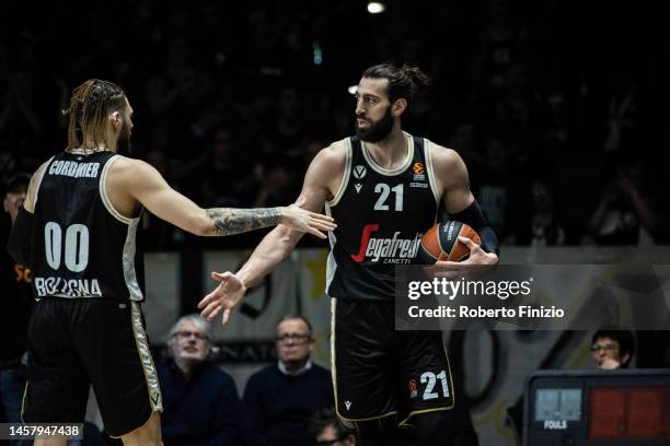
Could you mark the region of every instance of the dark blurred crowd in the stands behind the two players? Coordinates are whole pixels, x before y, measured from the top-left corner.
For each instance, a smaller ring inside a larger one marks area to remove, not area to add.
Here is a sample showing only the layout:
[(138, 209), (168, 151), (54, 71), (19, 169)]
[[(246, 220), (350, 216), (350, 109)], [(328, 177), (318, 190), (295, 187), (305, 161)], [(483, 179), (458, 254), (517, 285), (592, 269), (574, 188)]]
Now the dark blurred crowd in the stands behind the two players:
[[(286, 204), (314, 154), (353, 134), (348, 87), (393, 61), (432, 81), (405, 130), (459, 151), (503, 244), (668, 242), (670, 35), (652, 10), (394, 0), (373, 15), (362, 1), (120, 0), (14, 2), (2, 15), (4, 178), (65, 148), (71, 89), (102, 78), (135, 109), (132, 156), (198, 204)], [(149, 248), (204, 243), (150, 215), (145, 225)]]

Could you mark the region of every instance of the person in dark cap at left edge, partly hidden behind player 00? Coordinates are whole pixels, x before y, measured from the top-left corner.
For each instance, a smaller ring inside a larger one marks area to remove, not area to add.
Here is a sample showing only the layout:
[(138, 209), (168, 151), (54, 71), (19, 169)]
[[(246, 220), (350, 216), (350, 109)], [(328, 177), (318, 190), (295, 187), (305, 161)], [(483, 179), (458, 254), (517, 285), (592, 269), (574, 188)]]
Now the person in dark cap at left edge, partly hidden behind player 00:
[[(20, 173), (10, 177), (7, 183), (3, 207), (4, 212), (9, 214), (11, 224), (14, 224), (19, 208), (23, 206), (30, 180), (30, 174)], [(8, 233), (9, 228), (4, 234)], [(31, 270), (16, 263), (9, 256), (7, 249), (2, 254), (2, 259), (0, 413), (4, 411), (5, 422), (20, 423), (23, 390), (25, 388), (27, 326), (33, 307)]]

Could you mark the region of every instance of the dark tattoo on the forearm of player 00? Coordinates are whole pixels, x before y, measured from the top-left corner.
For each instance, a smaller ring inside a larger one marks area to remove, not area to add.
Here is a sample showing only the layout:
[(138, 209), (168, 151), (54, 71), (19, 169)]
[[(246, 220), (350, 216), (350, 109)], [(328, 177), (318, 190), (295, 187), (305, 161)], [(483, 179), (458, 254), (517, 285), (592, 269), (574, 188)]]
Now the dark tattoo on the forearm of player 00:
[(207, 210), (207, 216), (212, 224), (211, 235), (223, 236), (279, 224), (281, 211), (280, 208), (212, 208)]

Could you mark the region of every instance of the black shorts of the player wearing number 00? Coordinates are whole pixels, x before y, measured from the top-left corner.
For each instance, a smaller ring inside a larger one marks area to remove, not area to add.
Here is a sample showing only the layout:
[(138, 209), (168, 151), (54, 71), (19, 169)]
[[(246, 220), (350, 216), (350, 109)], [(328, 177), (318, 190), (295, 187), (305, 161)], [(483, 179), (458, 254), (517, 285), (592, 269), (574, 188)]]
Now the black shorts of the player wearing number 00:
[(82, 423), (89, 386), (114, 437), (163, 410), (137, 302), (42, 298), (31, 317), (28, 351), (26, 423)]

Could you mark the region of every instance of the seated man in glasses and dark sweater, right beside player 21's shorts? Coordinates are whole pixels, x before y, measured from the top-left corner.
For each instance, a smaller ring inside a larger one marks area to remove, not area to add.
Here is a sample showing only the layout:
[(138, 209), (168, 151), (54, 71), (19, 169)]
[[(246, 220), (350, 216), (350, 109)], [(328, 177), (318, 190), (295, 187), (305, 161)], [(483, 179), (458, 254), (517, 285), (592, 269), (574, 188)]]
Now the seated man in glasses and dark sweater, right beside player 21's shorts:
[(276, 347), (279, 361), (252, 375), (244, 390), (250, 444), (312, 446), (310, 416), (334, 406), (331, 373), (310, 360), (312, 327), (301, 316), (281, 319)]

